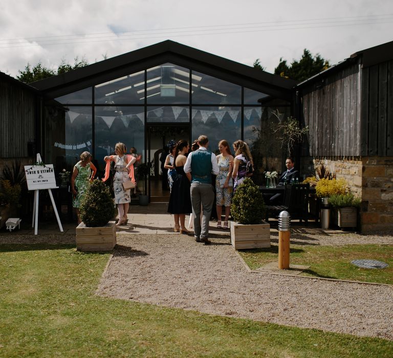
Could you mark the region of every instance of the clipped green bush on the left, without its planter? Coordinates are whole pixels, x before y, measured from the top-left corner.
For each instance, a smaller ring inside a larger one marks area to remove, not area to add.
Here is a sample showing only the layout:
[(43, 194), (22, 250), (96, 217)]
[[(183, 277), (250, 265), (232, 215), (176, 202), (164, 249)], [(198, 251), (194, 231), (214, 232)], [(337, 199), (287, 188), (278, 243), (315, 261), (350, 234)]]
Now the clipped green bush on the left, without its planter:
[(87, 227), (105, 226), (116, 215), (109, 188), (102, 181), (96, 179), (86, 190), (79, 212)]

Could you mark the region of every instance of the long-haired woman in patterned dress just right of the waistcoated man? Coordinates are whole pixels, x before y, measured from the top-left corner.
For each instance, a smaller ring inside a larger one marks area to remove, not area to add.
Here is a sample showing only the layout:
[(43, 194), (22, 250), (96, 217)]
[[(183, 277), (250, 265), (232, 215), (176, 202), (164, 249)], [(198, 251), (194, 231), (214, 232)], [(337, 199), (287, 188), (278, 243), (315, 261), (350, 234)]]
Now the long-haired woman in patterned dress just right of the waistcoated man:
[[(226, 140), (219, 142), (219, 155), (216, 156), (217, 164), (220, 171), (215, 178), (215, 192), (216, 192), (216, 210), (217, 210), (217, 228), (228, 229), (228, 218), (231, 211), (232, 202), (232, 168), (233, 156), (229, 149), (229, 144)], [(225, 206), (225, 220), (224, 226), (221, 227), (221, 214)]]

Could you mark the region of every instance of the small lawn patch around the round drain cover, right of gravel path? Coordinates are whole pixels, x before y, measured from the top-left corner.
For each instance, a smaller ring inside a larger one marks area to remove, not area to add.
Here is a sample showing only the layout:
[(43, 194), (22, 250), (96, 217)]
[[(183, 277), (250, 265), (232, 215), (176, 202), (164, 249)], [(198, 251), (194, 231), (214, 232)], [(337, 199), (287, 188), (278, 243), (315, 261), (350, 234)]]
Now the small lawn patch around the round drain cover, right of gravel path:
[[(268, 262), (278, 262), (278, 244), (270, 249), (239, 251), (250, 269), (254, 270)], [(355, 259), (386, 262), (386, 269), (361, 269), (351, 263)], [(392, 245), (346, 245), (342, 247), (293, 245), (290, 247), (290, 263), (308, 265), (303, 275), (393, 284)]]

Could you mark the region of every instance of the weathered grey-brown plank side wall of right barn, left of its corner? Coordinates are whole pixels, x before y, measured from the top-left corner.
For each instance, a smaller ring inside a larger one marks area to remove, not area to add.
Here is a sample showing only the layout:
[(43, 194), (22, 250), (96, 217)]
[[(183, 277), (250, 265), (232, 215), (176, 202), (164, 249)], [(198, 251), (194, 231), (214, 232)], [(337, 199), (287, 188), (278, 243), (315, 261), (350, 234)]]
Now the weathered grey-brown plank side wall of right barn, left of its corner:
[(309, 155), (360, 155), (360, 66), (354, 64), (302, 90)]

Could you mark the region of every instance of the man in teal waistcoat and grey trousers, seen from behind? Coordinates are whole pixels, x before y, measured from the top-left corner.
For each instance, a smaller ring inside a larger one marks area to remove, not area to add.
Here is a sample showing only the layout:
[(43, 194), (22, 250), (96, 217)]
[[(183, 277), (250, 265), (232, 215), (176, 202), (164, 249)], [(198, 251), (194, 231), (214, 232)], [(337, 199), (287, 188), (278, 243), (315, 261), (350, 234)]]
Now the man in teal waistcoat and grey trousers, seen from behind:
[[(211, 209), (214, 202), (214, 191), (211, 184), (211, 174), (219, 173), (219, 166), (215, 155), (206, 148), (209, 140), (206, 136), (198, 138), (199, 149), (191, 152), (184, 172), (191, 172), (191, 204), (194, 216), (194, 237), (197, 242), (204, 242), (205, 245), (210, 243), (209, 237), (209, 220)], [(201, 226), (201, 204), (202, 204), (202, 226)]]

